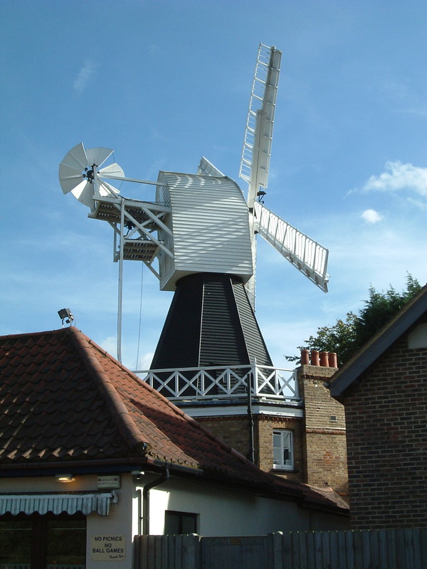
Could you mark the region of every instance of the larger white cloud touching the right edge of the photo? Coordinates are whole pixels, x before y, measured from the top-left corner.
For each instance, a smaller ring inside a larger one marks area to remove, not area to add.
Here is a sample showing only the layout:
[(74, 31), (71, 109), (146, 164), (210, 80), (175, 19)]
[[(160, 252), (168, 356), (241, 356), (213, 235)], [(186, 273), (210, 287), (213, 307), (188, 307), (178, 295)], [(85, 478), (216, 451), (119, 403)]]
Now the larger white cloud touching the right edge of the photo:
[(421, 196), (427, 196), (427, 168), (400, 161), (387, 161), (385, 171), (379, 176), (371, 176), (364, 184), (365, 191), (399, 191), (409, 189)]

